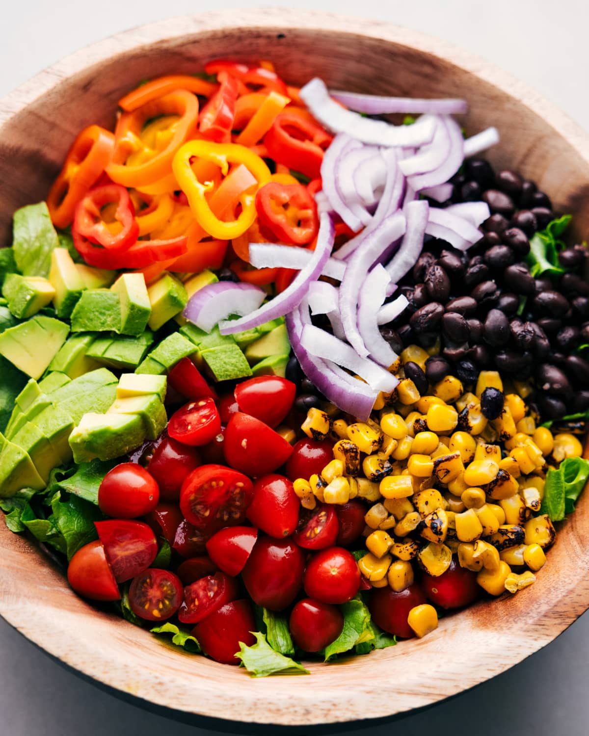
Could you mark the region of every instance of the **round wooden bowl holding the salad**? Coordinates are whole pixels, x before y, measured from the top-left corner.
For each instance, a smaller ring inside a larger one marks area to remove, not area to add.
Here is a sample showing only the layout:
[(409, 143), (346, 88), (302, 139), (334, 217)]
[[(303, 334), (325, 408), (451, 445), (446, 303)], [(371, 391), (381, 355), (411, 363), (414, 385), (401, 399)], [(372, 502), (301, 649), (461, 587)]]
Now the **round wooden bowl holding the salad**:
[[(202, 69), (215, 57), (272, 59), (290, 82), (460, 96), (470, 132), (495, 125), (490, 159), (534, 179), (589, 232), (589, 140), (509, 75), (448, 44), (376, 21), (322, 13), (231, 10), (174, 18), (77, 52), (0, 102), (0, 224), (46, 196), (85, 125), (112, 127), (116, 101), (141, 79)], [(379, 718), (440, 701), (521, 662), (589, 606), (589, 495), (579, 502), (531, 588), (448, 616), (423, 640), (367, 657), (310, 665), (311, 676), (250, 679), (96, 612), (26, 539), (0, 530), (0, 613), (49, 654), (150, 704), (249, 723), (311, 725)]]

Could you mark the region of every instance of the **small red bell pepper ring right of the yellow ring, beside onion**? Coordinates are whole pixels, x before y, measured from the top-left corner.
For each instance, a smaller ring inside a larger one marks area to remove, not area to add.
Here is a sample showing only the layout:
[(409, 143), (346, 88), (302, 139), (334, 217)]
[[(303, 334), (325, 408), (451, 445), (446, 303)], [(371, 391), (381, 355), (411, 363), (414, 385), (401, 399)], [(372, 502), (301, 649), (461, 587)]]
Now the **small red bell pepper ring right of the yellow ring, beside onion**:
[(306, 245), (319, 230), (314, 199), (302, 184), (265, 184), (255, 195), (255, 209), (283, 243)]

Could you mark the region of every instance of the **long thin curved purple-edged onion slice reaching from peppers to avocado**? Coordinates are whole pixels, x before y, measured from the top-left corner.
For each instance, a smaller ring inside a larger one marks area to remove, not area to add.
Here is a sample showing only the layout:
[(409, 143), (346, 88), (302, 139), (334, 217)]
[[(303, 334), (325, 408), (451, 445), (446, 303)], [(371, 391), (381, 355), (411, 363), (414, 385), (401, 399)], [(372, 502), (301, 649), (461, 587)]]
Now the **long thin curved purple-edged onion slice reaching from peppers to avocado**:
[(335, 230), (331, 217), (324, 213), (320, 216), (319, 222), (317, 245), (311, 260), (297, 273), (290, 286), (251, 314), (241, 317), (241, 319), (221, 322), (219, 330), (222, 335), (231, 335), (242, 330), (259, 327), (270, 319), (276, 319), (287, 314), (300, 304), (307, 293), (308, 285), (321, 275), (331, 249), (334, 247)]

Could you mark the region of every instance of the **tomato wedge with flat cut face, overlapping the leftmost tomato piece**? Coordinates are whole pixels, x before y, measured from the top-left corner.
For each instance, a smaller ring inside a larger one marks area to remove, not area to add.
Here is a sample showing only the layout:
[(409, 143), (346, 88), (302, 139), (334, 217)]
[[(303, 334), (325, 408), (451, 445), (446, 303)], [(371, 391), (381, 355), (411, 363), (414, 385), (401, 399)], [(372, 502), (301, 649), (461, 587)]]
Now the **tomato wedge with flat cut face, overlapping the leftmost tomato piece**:
[(96, 521), (94, 526), (118, 583), (147, 570), (158, 554), (155, 534), (142, 521), (109, 519)]

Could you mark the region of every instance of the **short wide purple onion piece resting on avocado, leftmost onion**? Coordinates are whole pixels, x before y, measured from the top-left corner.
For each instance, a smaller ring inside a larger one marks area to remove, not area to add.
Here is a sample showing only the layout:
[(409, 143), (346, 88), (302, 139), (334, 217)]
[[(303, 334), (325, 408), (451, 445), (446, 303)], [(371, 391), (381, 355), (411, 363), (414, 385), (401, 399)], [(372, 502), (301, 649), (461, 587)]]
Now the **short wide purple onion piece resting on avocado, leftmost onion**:
[(251, 283), (219, 281), (203, 286), (193, 294), (182, 314), (188, 322), (211, 332), (220, 320), (231, 314), (244, 315), (255, 311), (266, 297), (264, 289)]

